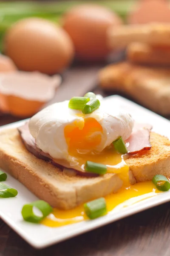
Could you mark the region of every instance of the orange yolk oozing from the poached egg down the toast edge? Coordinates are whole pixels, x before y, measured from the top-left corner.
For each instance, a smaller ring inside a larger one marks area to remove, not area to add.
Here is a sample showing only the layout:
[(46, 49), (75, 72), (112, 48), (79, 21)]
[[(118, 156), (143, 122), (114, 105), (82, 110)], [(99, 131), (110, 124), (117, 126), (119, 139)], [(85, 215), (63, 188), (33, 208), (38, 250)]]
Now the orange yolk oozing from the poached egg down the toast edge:
[(94, 118), (81, 116), (79, 120), (65, 127), (65, 140), (68, 144), (68, 153), (81, 168), (86, 161), (107, 165), (108, 172), (119, 173), (123, 180), (128, 179), (128, 166), (118, 154), (113, 145), (96, 153), (95, 148), (101, 143), (103, 129)]

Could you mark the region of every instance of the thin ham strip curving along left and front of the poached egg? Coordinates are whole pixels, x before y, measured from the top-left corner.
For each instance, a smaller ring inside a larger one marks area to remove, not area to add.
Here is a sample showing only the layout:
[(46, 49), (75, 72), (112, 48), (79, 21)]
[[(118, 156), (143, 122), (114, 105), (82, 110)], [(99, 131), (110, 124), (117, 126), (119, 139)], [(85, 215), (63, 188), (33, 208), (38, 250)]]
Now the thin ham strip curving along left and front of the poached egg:
[(34, 137), (32, 137), (32, 135), (29, 132), (29, 128), (28, 128), (28, 123), (26, 123), (25, 125), (22, 125), (18, 128), (18, 131), (20, 133), (20, 137), (26, 147), (26, 149), (34, 154), (35, 157), (40, 158), (42, 160), (48, 161), (50, 162), (52, 165), (56, 166), (57, 168), (61, 169), (62, 171), (64, 171), (65, 173), (68, 172), (72, 172), (72, 175), (74, 176), (74, 174), (76, 175), (81, 175), (81, 176), (85, 176), (85, 177), (97, 177), (99, 176), (96, 173), (91, 173), (91, 172), (85, 172), (85, 171), (78, 171), (75, 169), (71, 169), (71, 168), (66, 168), (65, 166), (62, 166), (59, 163), (56, 163), (49, 154), (43, 152), (40, 148), (37, 147), (37, 144), (35, 142)]

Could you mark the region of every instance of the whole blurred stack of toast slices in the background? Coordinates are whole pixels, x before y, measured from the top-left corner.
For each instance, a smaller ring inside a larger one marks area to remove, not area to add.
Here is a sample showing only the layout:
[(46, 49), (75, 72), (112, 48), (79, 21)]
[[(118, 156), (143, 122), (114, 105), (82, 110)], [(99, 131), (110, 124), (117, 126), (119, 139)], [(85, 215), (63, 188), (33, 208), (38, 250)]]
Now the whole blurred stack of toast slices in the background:
[(125, 60), (99, 71), (100, 87), (170, 115), (170, 23), (111, 26), (107, 42), (110, 49), (124, 49)]

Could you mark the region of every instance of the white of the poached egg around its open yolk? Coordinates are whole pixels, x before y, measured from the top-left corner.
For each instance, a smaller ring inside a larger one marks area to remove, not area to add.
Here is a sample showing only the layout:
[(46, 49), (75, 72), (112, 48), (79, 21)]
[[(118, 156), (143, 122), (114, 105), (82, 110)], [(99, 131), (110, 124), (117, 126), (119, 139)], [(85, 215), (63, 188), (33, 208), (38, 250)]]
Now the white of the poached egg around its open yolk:
[[(108, 108), (104, 100), (100, 100), (100, 107), (91, 114), (86, 114), (84, 118), (94, 118), (102, 126), (103, 133), (101, 143), (92, 148), (92, 151), (101, 152), (111, 145), (119, 136), (126, 140), (133, 129), (133, 118), (129, 113), (119, 112), (112, 104)], [(63, 159), (73, 161), (68, 153), (68, 145), (65, 140), (64, 128), (75, 121), (84, 118), (77, 116), (81, 111), (68, 108), (68, 101), (55, 103), (44, 108), (35, 114), (29, 122), (29, 130), (35, 138), (37, 147), (48, 153), (53, 159)], [(74, 165), (75, 163), (73, 163)]]

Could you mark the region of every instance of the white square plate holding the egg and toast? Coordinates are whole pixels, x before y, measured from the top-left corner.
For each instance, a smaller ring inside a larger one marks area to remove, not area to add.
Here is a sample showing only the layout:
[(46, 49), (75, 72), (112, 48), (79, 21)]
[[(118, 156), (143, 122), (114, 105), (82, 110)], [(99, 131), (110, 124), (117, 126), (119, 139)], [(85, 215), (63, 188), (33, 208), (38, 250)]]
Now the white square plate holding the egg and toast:
[[(108, 105), (110, 105), (112, 102), (112, 107), (125, 108), (136, 121), (150, 123), (153, 125), (153, 131), (170, 138), (170, 121), (167, 119), (164, 119), (163, 117), (148, 111), (147, 109), (142, 108), (141, 106), (120, 96), (110, 96), (105, 98), (105, 101), (108, 103)], [(10, 125), (5, 125), (0, 129), (17, 127), (22, 125), (24, 122), (25, 120)], [(77, 224), (71, 224), (64, 227), (51, 228), (40, 224), (31, 224), (23, 221), (21, 215), (23, 205), (35, 201), (38, 198), (10, 175), (8, 175), (8, 179), (5, 183), (17, 189), (18, 195), (16, 198), (0, 199), (0, 217), (13, 230), (22, 236), (23, 239), (36, 248), (47, 247), (51, 244), (77, 236), (78, 234), (85, 233), (86, 231), (93, 230), (102, 225), (125, 218), (136, 212), (140, 212), (150, 207), (170, 201), (170, 191), (164, 192), (156, 195), (153, 198), (148, 198), (144, 201), (132, 204), (119, 211), (113, 210), (108, 215), (93, 221), (82, 221)]]

